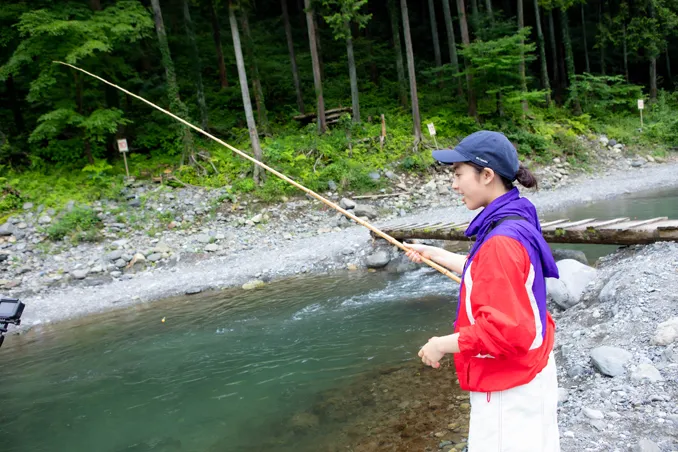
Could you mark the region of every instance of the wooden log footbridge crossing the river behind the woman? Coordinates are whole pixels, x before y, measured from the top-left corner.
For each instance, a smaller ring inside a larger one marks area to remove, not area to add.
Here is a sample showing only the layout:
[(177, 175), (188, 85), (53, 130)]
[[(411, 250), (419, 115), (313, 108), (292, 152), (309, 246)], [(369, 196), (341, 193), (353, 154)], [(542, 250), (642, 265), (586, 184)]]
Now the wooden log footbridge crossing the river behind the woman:
[[(404, 223), (377, 225), (397, 240), (434, 239), (469, 240), (464, 231), (467, 223)], [(586, 218), (542, 221), (542, 234), (549, 243), (589, 243), (606, 245), (634, 245), (660, 241), (678, 241), (678, 220), (667, 217), (648, 220), (626, 217), (611, 220)], [(373, 237), (377, 237), (372, 233)]]

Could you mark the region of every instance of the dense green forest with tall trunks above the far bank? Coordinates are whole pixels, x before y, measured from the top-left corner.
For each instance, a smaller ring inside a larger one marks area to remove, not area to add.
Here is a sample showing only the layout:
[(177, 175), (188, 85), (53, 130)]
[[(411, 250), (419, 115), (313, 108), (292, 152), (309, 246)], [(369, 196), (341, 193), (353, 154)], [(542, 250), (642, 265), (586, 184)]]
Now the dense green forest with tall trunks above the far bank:
[[(379, 188), (499, 130), (529, 162), (583, 138), (678, 146), (675, 0), (4, 0), (0, 218), (136, 179), (294, 193), (103, 77), (319, 191)], [(644, 101), (643, 126), (638, 100)], [(427, 124), (434, 124), (436, 136)], [(435, 141), (433, 140), (435, 138)], [(676, 148), (678, 149), (678, 148)]]

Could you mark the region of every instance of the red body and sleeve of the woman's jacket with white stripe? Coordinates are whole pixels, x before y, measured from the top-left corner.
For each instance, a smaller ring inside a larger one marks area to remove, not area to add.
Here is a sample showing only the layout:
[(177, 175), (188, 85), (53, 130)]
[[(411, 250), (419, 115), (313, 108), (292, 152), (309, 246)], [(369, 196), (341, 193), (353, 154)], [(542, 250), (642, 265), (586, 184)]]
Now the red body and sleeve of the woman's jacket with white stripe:
[[(455, 333), (454, 362), (462, 389), (503, 391), (529, 383), (547, 364), (555, 323), (540, 319), (535, 272), (525, 247), (495, 235), (467, 264)], [(542, 278), (543, 279), (543, 278)]]

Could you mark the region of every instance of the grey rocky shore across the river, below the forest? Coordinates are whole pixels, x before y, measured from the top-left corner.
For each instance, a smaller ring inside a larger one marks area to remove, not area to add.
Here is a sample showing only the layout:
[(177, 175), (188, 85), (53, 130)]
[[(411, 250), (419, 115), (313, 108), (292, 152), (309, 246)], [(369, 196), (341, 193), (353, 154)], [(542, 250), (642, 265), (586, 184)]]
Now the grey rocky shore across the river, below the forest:
[[(678, 164), (672, 159), (631, 154), (605, 137), (586, 145), (588, 172), (560, 159), (535, 166), (542, 189), (525, 195), (540, 213), (678, 186)], [(388, 181), (376, 193), (388, 196), (343, 203), (376, 224), (396, 217), (468, 220), (475, 214), (451, 191), (449, 168), (421, 175), (375, 172), (372, 177)], [(335, 191), (323, 195), (337, 203), (351, 198)], [(83, 208), (101, 222), (99, 241), (47, 238), (51, 225)], [(119, 199), (92, 206), (69, 203), (54, 212), (28, 203), (23, 213), (0, 225), (0, 293), (25, 300), (24, 325), (30, 327), (247, 282), (256, 287), (259, 281), (303, 273), (381, 267), (401, 254), (379, 242), (372, 242), (365, 228), (307, 197), (264, 204), (236, 198), (225, 189), (176, 189), (138, 181)], [(388, 268), (398, 267), (393, 262)]]

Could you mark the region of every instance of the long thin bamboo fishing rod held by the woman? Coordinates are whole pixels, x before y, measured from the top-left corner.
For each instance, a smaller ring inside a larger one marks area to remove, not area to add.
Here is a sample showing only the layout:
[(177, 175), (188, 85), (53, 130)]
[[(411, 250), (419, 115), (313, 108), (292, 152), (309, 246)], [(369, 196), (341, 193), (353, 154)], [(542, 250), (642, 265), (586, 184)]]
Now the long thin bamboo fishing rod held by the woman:
[[(97, 79), (97, 80), (99, 80), (99, 81), (101, 81), (101, 82), (104, 82), (105, 84), (110, 85), (110, 86), (112, 86), (113, 88), (116, 88), (116, 89), (122, 91), (123, 93), (128, 94), (128, 95), (134, 97), (135, 99), (139, 99), (140, 101), (142, 101), (142, 102), (144, 102), (144, 103), (150, 105), (151, 107), (155, 108), (156, 110), (159, 110), (159, 111), (165, 113), (166, 115), (171, 116), (172, 118), (174, 118), (174, 119), (176, 119), (177, 121), (181, 122), (182, 124), (185, 124), (186, 126), (190, 127), (191, 129), (195, 130), (196, 132), (201, 133), (202, 135), (205, 135), (205, 136), (208, 137), (208, 138), (211, 138), (212, 140), (216, 141), (216, 142), (219, 143), (220, 145), (222, 145), (222, 146), (224, 146), (224, 147), (230, 149), (231, 151), (233, 151), (233, 152), (235, 152), (236, 154), (238, 154), (239, 156), (241, 156), (241, 157), (243, 157), (243, 158), (249, 160), (250, 162), (254, 163), (255, 165), (258, 165), (258, 166), (260, 166), (261, 168), (265, 169), (266, 171), (275, 174), (275, 175), (278, 176), (280, 179), (282, 179), (282, 180), (284, 180), (285, 182), (288, 182), (288, 183), (294, 185), (294, 186), (295, 186), (296, 188), (298, 188), (299, 190), (308, 193), (310, 196), (314, 197), (314, 198), (317, 199), (318, 201), (320, 201), (320, 202), (322, 202), (322, 203), (324, 203), (324, 204), (326, 204), (326, 205), (332, 207), (332, 208), (335, 209), (335, 210), (338, 210), (338, 211), (341, 212), (342, 214), (344, 214), (344, 215), (346, 215), (347, 217), (349, 217), (351, 220), (355, 221), (356, 223), (358, 223), (358, 224), (360, 224), (360, 225), (362, 225), (362, 226), (365, 226), (367, 229), (369, 229), (370, 231), (374, 232), (376, 235), (378, 235), (379, 237), (383, 238), (384, 240), (386, 240), (387, 242), (391, 243), (392, 245), (397, 246), (398, 248), (400, 248), (401, 250), (403, 250), (403, 251), (405, 251), (405, 252), (407, 252), (407, 251), (410, 250), (410, 248), (408, 248), (406, 245), (403, 245), (402, 243), (400, 243), (399, 241), (397, 241), (396, 239), (394, 239), (394, 238), (391, 237), (390, 235), (388, 235), (388, 234), (386, 234), (385, 232), (379, 230), (379, 229), (376, 228), (375, 226), (372, 226), (372, 225), (369, 224), (368, 222), (361, 220), (360, 218), (358, 218), (358, 217), (356, 217), (355, 215), (353, 215), (351, 212), (349, 212), (349, 211), (343, 209), (341, 206), (339, 206), (339, 205), (333, 203), (333, 202), (330, 201), (329, 199), (326, 199), (326, 198), (322, 197), (321, 195), (317, 194), (316, 192), (314, 192), (313, 190), (304, 187), (303, 185), (301, 185), (301, 184), (298, 183), (298, 182), (295, 182), (294, 180), (292, 180), (292, 179), (290, 179), (289, 177), (285, 176), (285, 175), (282, 174), (281, 172), (276, 171), (275, 169), (273, 169), (273, 168), (271, 168), (270, 166), (268, 166), (268, 165), (266, 165), (266, 164), (260, 162), (259, 160), (255, 159), (254, 157), (250, 157), (249, 155), (245, 154), (243, 151), (241, 151), (241, 150), (239, 150), (239, 149), (237, 149), (237, 148), (231, 146), (230, 144), (226, 143), (225, 141), (220, 140), (219, 138), (215, 137), (214, 135), (212, 135), (212, 134), (210, 134), (210, 133), (208, 133), (208, 132), (205, 132), (205, 131), (202, 130), (200, 127), (194, 126), (194, 125), (191, 124), (190, 122), (188, 122), (188, 121), (186, 121), (186, 120), (180, 118), (179, 116), (177, 116), (177, 115), (175, 115), (175, 114), (173, 114), (173, 113), (171, 113), (171, 112), (165, 110), (165, 109), (162, 108), (162, 107), (158, 107), (158, 106), (155, 105), (153, 102), (148, 101), (148, 100), (144, 99), (143, 97), (138, 96), (138, 95), (136, 95), (136, 94), (134, 94), (134, 93), (131, 93), (131, 92), (127, 91), (125, 88), (121, 88), (121, 87), (119, 87), (118, 85), (116, 85), (116, 84), (114, 84), (114, 83), (112, 83), (112, 82), (109, 82), (109, 81), (106, 80), (106, 79), (103, 79), (103, 78), (99, 77), (98, 75), (92, 74), (91, 72), (87, 72), (86, 70), (81, 69), (81, 68), (79, 68), (79, 67), (77, 67), (77, 66), (73, 66), (72, 64), (64, 63), (64, 62), (62, 62), (62, 61), (54, 61), (54, 63), (62, 64), (62, 65), (64, 65), (64, 66), (68, 66), (68, 67), (70, 67), (70, 68), (73, 68), (73, 69), (75, 69), (76, 71), (80, 71), (80, 72), (82, 72), (83, 74), (87, 74), (87, 75), (89, 75), (90, 77), (94, 77), (95, 79)], [(461, 279), (459, 279), (459, 277), (458, 277), (457, 275), (455, 275), (454, 273), (452, 273), (451, 271), (449, 271), (449, 270), (446, 269), (445, 267), (443, 267), (443, 266), (441, 266), (441, 265), (439, 265), (439, 264), (436, 264), (435, 262), (433, 262), (433, 261), (430, 260), (430, 259), (425, 258), (424, 256), (421, 256), (421, 260), (422, 260), (422, 262), (424, 262), (425, 264), (427, 264), (427, 265), (429, 265), (429, 266), (435, 268), (436, 270), (438, 270), (440, 273), (442, 273), (443, 275), (447, 276), (448, 278), (450, 278), (450, 279), (452, 279), (452, 280), (454, 280), (454, 281), (456, 281), (456, 282), (458, 282), (458, 283), (461, 283)]]

